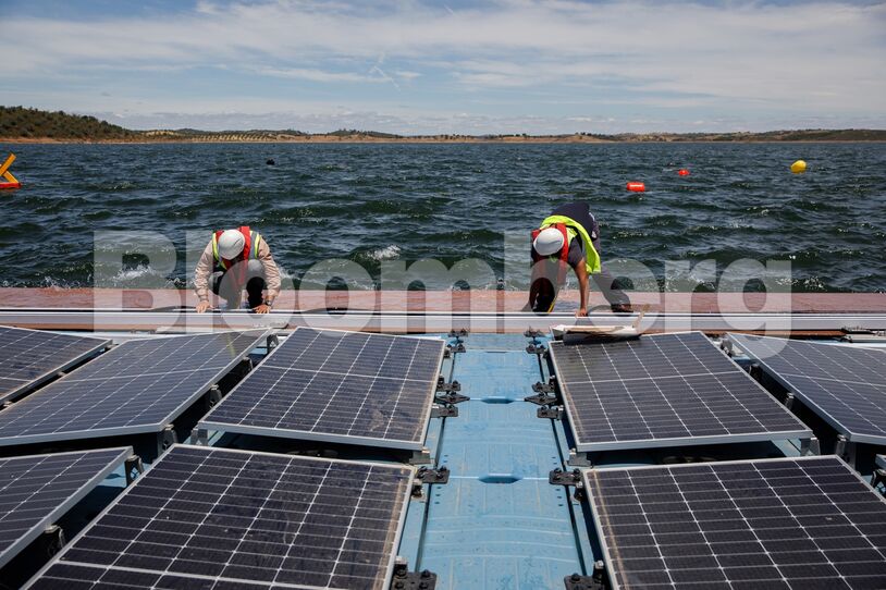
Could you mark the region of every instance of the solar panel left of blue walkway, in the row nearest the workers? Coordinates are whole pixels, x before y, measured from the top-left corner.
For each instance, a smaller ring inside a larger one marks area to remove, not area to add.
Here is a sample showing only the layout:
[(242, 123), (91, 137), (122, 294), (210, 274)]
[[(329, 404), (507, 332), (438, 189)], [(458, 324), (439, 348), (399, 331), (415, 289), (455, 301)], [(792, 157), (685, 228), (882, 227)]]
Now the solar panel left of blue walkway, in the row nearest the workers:
[(299, 328), (200, 428), (420, 450), (444, 347), (436, 339)]

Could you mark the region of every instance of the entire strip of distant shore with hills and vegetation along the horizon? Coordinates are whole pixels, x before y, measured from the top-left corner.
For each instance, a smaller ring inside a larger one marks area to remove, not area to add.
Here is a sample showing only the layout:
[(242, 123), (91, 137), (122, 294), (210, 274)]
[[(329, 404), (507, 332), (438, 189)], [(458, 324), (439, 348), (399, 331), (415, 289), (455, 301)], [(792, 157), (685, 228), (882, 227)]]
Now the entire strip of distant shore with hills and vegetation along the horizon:
[(208, 132), (192, 128), (134, 131), (95, 116), (64, 111), (0, 106), (0, 140), (59, 143), (622, 143), (622, 142), (886, 142), (886, 130), (792, 130), (763, 133), (622, 133), (577, 132), (488, 135), (396, 135), (337, 130), (310, 134), (296, 130)]

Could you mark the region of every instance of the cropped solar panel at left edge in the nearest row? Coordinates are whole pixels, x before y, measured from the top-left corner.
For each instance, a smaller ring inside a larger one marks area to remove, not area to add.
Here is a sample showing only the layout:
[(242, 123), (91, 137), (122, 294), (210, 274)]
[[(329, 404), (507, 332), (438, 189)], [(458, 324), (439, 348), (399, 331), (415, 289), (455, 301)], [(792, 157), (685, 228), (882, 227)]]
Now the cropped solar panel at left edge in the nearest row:
[(0, 567), (131, 454), (125, 447), (0, 458)]

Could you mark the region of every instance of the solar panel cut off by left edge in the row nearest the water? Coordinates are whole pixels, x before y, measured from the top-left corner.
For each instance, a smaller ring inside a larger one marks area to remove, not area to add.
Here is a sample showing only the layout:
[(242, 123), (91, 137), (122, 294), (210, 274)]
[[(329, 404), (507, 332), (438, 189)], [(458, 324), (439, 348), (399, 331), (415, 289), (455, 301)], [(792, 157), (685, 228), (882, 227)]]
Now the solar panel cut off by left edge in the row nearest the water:
[(0, 402), (19, 397), (109, 343), (0, 325)]

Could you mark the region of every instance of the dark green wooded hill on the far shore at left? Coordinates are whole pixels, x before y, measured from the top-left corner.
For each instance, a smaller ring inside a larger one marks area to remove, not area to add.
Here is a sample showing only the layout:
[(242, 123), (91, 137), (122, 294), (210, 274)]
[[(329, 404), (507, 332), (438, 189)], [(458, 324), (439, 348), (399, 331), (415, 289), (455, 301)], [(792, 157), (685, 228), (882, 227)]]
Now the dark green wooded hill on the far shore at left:
[(48, 139), (137, 139), (130, 131), (95, 116), (49, 112), (24, 107), (0, 107), (0, 137)]

